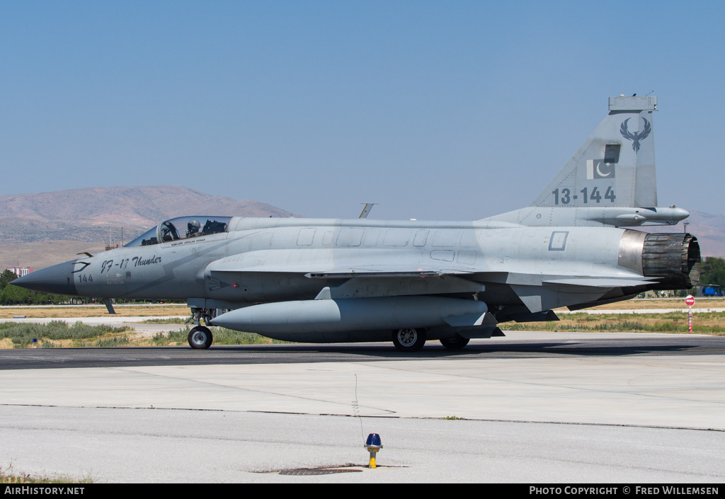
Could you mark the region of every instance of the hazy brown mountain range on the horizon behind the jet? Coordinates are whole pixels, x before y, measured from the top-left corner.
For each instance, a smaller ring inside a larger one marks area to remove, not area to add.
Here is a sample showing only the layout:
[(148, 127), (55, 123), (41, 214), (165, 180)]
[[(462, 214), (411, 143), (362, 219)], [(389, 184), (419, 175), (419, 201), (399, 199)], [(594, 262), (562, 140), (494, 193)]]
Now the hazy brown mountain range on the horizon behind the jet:
[[(0, 196), (1, 268), (43, 268), (129, 242), (162, 220), (183, 215), (297, 216), (262, 202), (212, 196), (184, 186), (92, 187)], [(703, 256), (725, 257), (725, 214), (692, 212), (687, 231)], [(682, 232), (677, 226), (642, 227)], [(0, 269), (1, 269), (0, 268)]]

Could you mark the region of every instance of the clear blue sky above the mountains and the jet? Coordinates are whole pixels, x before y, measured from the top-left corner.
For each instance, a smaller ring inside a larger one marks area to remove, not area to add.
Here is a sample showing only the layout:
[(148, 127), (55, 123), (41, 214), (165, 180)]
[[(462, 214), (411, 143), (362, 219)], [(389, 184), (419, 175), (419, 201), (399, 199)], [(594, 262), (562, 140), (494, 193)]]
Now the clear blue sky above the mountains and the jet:
[(654, 90), (659, 204), (724, 213), (724, 15), (0, 0), (0, 194), (181, 184), (305, 216), (470, 220), (529, 205), (609, 96)]

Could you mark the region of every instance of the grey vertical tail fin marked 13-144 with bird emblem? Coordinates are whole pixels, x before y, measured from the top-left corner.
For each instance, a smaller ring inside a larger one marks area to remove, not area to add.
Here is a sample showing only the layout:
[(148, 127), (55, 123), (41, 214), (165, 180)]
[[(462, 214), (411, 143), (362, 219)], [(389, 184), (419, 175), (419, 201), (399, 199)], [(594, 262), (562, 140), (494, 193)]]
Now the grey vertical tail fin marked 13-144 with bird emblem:
[(657, 97), (610, 97), (609, 114), (531, 206), (656, 207)]

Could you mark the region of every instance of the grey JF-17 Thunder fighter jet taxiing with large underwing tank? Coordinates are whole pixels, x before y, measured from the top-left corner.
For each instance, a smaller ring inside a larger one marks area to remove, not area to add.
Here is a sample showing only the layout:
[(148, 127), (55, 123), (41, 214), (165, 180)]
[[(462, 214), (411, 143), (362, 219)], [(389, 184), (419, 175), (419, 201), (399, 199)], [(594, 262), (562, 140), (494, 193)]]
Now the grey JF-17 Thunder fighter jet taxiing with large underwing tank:
[[(690, 234), (629, 227), (689, 216), (657, 207), (655, 96), (609, 113), (529, 207), (466, 222), (186, 216), (125, 246), (13, 281), (42, 292), (186, 300), (191, 347), (207, 326), (294, 342), (426, 340), (465, 347), (506, 321), (556, 321), (700, 277)], [(202, 325), (202, 322), (204, 325)]]

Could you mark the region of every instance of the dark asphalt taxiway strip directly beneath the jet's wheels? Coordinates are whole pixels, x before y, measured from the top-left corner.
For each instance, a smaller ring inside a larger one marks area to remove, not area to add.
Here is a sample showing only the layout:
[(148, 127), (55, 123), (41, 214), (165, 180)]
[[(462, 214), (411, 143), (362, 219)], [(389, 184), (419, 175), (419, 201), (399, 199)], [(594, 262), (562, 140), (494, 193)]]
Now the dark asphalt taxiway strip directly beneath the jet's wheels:
[[(147, 324), (169, 329), (169, 325)], [(414, 355), (392, 343), (336, 345), (189, 347), (38, 348), (0, 350), (0, 370), (118, 366), (203, 366), (209, 364), (274, 364), (359, 362), (371, 360), (556, 358), (598, 355), (724, 355), (725, 337), (687, 334), (548, 333), (508, 331), (505, 338), (473, 340), (463, 350), (446, 350), (431, 341)]]

